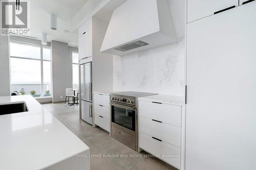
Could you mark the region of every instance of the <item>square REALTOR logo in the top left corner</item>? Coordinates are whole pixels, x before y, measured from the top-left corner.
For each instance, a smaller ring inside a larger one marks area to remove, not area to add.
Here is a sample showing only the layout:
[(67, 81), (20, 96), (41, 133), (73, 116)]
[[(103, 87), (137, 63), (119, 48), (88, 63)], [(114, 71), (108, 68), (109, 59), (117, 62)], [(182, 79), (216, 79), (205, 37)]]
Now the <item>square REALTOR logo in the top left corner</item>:
[(1, 35), (28, 35), (29, 1), (1, 1)]

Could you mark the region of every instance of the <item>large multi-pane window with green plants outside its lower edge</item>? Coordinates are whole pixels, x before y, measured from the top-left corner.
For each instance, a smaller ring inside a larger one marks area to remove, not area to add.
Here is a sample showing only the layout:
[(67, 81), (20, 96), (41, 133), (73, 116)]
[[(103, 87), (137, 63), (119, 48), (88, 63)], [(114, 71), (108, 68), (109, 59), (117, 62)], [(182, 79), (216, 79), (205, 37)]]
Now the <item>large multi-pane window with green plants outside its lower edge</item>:
[(10, 42), (11, 91), (51, 96), (50, 47)]

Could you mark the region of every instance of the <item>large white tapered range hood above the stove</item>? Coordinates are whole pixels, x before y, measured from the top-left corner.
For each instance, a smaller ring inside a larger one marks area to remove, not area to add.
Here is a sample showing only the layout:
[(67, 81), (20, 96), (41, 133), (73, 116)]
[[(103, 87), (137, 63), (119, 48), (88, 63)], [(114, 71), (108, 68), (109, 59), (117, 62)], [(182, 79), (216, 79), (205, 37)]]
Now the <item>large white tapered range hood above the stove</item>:
[(167, 0), (128, 0), (113, 11), (100, 52), (122, 56), (175, 41)]

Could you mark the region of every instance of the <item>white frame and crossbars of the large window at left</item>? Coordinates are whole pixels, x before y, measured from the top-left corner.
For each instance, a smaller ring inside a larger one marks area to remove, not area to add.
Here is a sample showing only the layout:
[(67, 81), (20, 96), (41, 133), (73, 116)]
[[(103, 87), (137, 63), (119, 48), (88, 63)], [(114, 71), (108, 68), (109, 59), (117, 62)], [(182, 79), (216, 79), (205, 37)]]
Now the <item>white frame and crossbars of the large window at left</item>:
[[(49, 48), (51, 50), (51, 47), (47, 46), (47, 45), (32, 44), (32, 43), (28, 43), (28, 42), (20, 42), (20, 41), (14, 41), (14, 40), (10, 40), (9, 43), (16, 43), (16, 44), (40, 47), (40, 59), (11, 56), (11, 52), (10, 52), (10, 59), (11, 58), (17, 58), (17, 59), (26, 59), (26, 60), (37, 60), (37, 61), (40, 61), (40, 67), (41, 67), (40, 68), (40, 70), (41, 70), (41, 79), (40, 80), (41, 80), (41, 85), (40, 85), (40, 97), (37, 97), (37, 98), (43, 98), (44, 97), (44, 61), (50, 61), (52, 63), (52, 60), (44, 59), (42, 50), (43, 50), (43, 48)], [(10, 78), (11, 78), (11, 75), (10, 75)], [(52, 70), (51, 70), (51, 80), (52, 80)], [(11, 85), (12, 85), (12, 83), (11, 83)], [(51, 81), (51, 92), (52, 92), (52, 81)], [(49, 96), (49, 97), (52, 98), (52, 95)]]

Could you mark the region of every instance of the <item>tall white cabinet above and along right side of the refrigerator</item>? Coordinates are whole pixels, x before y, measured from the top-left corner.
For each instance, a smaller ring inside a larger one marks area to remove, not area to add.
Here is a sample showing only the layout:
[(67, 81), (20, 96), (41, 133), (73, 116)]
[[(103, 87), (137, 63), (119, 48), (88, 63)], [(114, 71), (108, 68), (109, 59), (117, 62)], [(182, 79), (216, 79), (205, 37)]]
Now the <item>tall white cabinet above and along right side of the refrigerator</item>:
[[(113, 88), (113, 56), (100, 53), (100, 47), (108, 25), (108, 22), (91, 17), (78, 30), (79, 63), (92, 62), (93, 91), (112, 91)], [(94, 121), (95, 117), (93, 115), (93, 125)]]

